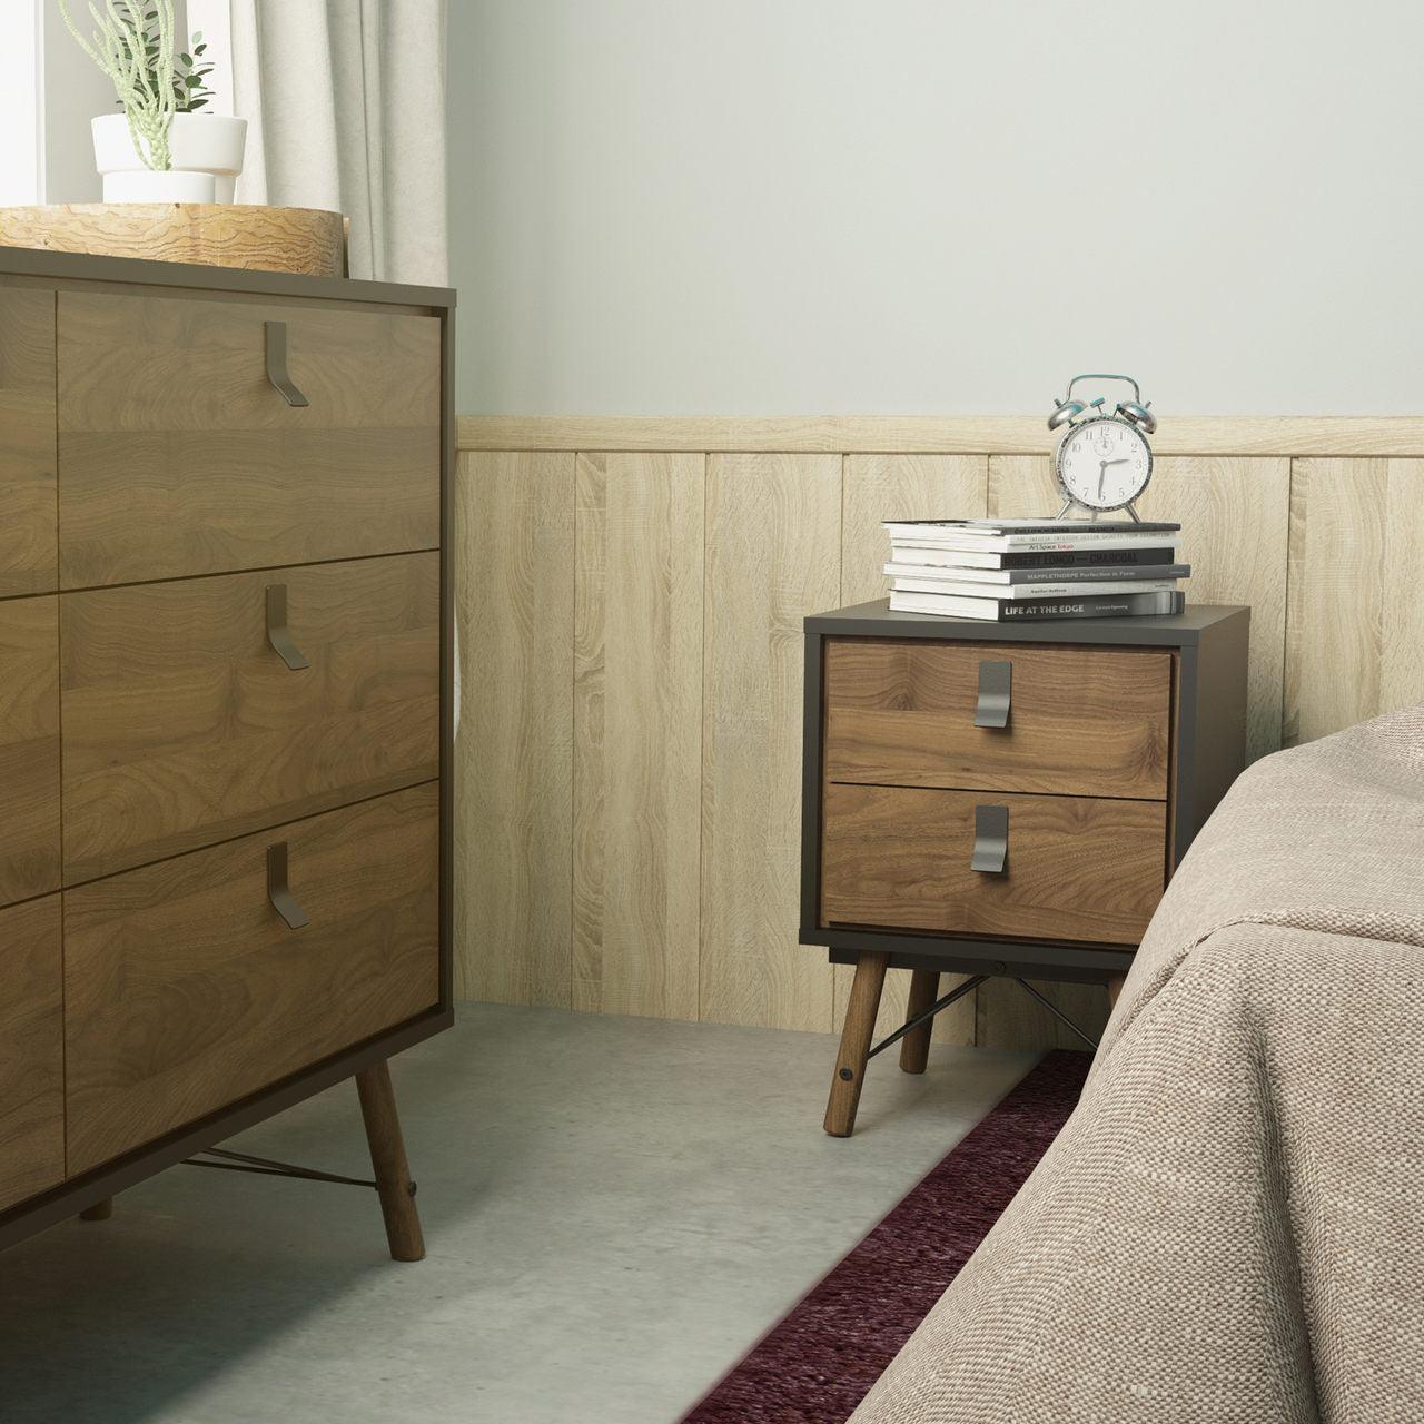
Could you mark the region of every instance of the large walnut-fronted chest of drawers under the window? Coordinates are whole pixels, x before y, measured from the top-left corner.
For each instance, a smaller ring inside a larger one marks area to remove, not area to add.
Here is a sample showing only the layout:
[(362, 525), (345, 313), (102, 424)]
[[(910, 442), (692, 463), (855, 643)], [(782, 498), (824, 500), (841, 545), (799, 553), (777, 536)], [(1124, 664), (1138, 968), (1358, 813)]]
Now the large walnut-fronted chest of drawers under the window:
[(453, 296), (0, 249), (0, 1247), (451, 1022)]

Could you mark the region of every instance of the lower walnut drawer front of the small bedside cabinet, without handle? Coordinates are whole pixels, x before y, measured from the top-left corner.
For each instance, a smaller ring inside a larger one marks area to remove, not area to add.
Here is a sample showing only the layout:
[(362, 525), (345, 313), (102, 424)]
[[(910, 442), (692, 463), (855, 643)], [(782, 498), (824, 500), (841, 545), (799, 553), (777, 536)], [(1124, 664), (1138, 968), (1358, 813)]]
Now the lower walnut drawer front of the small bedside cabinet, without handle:
[[(1000, 874), (971, 869), (984, 805), (1008, 809)], [(1136, 944), (1165, 877), (1165, 802), (826, 787), (826, 927)]]

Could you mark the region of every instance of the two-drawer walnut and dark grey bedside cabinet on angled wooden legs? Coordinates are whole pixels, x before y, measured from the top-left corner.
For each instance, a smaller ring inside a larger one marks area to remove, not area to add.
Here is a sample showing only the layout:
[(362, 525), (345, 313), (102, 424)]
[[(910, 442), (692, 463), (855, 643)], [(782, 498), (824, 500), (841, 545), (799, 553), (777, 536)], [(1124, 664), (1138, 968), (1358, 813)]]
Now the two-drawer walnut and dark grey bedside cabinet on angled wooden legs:
[[(854, 964), (826, 1131), (870, 1057), (923, 1072), (990, 975), (1116, 998), (1192, 837), (1245, 765), (1250, 609), (997, 624), (862, 604), (806, 619), (802, 944)], [(887, 970), (906, 1025), (871, 1047)], [(940, 974), (971, 975), (943, 998)], [(1051, 1005), (1049, 1005), (1051, 1007)]]

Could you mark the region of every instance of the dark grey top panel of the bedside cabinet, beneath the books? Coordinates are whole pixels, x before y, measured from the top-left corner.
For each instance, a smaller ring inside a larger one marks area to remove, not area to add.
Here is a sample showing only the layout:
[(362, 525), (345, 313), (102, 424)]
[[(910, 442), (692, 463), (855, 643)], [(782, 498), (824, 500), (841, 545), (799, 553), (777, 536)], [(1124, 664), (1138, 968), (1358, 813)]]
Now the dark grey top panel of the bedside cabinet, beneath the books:
[(1239, 604), (1189, 604), (1172, 618), (1064, 618), (1048, 622), (988, 622), (977, 618), (940, 618), (931, 614), (890, 612), (890, 600), (853, 604), (832, 612), (812, 614), (806, 632), (843, 638), (938, 638), (968, 642), (1122, 644), (1180, 648), (1199, 642), (1220, 624), (1250, 618)]

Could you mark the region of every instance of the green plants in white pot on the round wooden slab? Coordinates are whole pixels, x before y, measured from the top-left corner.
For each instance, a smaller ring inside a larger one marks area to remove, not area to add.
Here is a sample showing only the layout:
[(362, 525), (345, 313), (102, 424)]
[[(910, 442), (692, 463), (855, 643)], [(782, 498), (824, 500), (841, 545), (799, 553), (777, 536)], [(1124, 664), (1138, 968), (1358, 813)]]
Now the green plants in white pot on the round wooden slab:
[(248, 121), (201, 110), (212, 97), (206, 46), (177, 48), (172, 0), (90, 0), (85, 38), (60, 13), (85, 54), (114, 81), (121, 114), (94, 120), (94, 161), (105, 202), (232, 202)]

